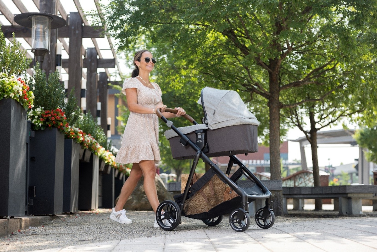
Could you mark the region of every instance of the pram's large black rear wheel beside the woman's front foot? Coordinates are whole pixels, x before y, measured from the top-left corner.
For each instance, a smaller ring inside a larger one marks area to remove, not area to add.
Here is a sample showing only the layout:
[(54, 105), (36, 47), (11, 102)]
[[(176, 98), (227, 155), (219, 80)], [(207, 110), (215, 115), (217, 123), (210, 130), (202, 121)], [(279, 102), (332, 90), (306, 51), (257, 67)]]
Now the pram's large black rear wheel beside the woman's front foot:
[(162, 201), (157, 207), (156, 220), (164, 230), (173, 230), (181, 223), (181, 209), (172, 200)]

